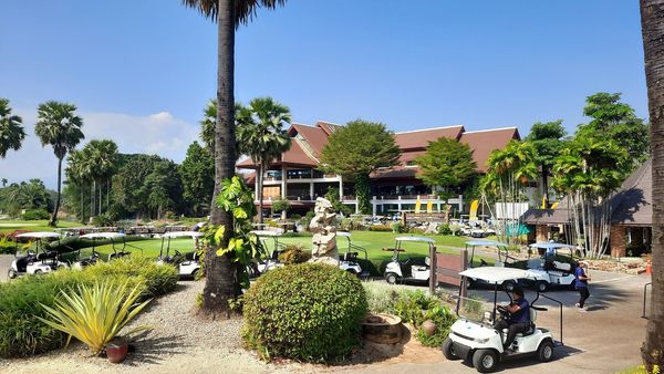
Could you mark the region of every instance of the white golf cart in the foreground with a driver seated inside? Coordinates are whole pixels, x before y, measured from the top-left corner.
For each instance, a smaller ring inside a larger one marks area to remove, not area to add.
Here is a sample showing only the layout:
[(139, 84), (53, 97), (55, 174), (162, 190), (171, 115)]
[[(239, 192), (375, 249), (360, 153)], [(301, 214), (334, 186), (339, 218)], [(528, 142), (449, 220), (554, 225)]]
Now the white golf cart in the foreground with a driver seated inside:
[[(562, 345), (562, 342), (556, 342), (552, 333), (542, 328), (537, 328), (537, 312), (547, 311), (547, 308), (537, 307), (540, 298), (537, 293), (535, 300), (530, 301), (530, 321), (531, 326), (526, 333), (518, 333), (513, 343), (505, 350), (502, 346), (507, 330), (498, 331), (494, 328), (498, 316), (506, 318), (507, 312), (498, 307), (498, 289), (507, 280), (528, 278), (529, 272), (521, 269), (481, 267), (468, 269), (459, 272), (461, 276), (461, 287), (459, 288), (459, 298), (457, 299), (456, 312), (459, 315), (450, 328), (450, 333), (443, 343), (443, 354), (447, 360), (463, 359), (466, 362), (473, 362), (475, 368), (480, 373), (492, 372), (498, 364), (508, 359), (520, 359), (525, 356), (537, 356), (541, 362), (548, 362), (553, 359), (556, 346)], [(468, 308), (471, 303), (477, 305), (479, 301), (461, 297), (465, 279), (481, 279), (487, 283), (494, 284), (494, 302), (483, 303), (480, 308)], [(511, 302), (511, 294), (505, 291)], [(562, 303), (558, 300), (541, 295), (560, 305), (560, 336), (562, 339)], [(461, 308), (460, 304), (466, 307)], [(479, 309), (479, 310), (478, 310)], [(466, 310), (466, 312), (459, 312)], [(461, 315), (468, 314), (468, 315)]]

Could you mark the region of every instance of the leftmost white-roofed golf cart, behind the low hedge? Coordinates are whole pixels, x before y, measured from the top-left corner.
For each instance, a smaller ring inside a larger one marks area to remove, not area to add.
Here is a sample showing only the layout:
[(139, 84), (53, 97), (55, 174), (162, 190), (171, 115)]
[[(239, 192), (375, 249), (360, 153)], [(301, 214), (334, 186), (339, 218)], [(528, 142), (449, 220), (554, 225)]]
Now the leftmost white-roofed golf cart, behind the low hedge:
[[(34, 251), (28, 249), (25, 254), (19, 256), (19, 239), (33, 239)], [(14, 279), (24, 274), (41, 274), (60, 268), (69, 268), (69, 263), (60, 261), (58, 251), (46, 251), (44, 239), (60, 239), (56, 232), (24, 232), (15, 236), (15, 259), (11, 262), (7, 277)]]

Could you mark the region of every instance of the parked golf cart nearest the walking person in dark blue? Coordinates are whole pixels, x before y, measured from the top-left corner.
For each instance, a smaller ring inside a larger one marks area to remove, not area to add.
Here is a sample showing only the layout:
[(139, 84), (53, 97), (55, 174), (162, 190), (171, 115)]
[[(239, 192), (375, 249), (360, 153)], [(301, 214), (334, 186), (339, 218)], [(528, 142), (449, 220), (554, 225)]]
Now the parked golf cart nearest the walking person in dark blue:
[(528, 280), (538, 292), (546, 292), (551, 287), (574, 288), (574, 246), (558, 242), (538, 242), (530, 248), (541, 252), (539, 259), (528, 260), (528, 269), (532, 277)]

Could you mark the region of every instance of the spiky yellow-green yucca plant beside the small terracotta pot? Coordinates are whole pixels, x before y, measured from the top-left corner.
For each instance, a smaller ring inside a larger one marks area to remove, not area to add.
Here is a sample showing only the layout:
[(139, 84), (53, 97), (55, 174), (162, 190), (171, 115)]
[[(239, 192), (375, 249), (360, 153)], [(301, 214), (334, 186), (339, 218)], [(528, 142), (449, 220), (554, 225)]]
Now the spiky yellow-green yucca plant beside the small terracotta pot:
[[(79, 284), (77, 290), (60, 291), (55, 308), (42, 304), (46, 319), (39, 318), (49, 326), (69, 334), (86, 344), (93, 354), (100, 354), (106, 344), (138, 314), (151, 300), (137, 303), (142, 288), (128, 288), (128, 282), (95, 282), (93, 285)], [(139, 326), (127, 335), (147, 330)]]

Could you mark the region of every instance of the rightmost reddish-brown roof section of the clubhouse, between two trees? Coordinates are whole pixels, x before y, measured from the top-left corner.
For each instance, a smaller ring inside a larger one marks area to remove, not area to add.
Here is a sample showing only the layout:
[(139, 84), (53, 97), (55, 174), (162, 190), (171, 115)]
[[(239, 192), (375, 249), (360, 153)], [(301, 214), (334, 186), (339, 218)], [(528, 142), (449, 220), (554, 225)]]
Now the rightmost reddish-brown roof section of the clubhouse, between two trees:
[(464, 142), (473, 149), (473, 158), (477, 163), (477, 169), (480, 173), (487, 172), (487, 162), (489, 155), (496, 149), (502, 149), (511, 139), (520, 139), (517, 127), (506, 127), (496, 129), (481, 129), (476, 132), (465, 132), (459, 142)]

